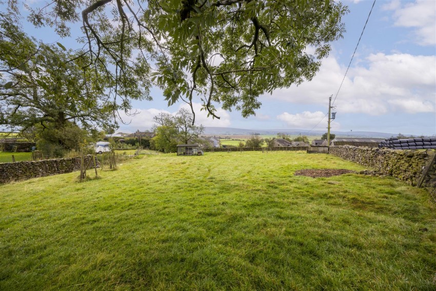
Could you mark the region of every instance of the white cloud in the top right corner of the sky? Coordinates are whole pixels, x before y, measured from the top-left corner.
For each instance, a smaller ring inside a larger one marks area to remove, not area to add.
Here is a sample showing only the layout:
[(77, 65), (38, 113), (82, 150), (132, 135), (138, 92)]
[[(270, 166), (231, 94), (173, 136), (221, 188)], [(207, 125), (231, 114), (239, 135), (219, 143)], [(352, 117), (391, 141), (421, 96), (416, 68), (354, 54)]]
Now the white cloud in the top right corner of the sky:
[(413, 28), (415, 41), (419, 45), (435, 45), (436, 2), (417, 0), (415, 3), (401, 4), (392, 2), (384, 6), (386, 10), (394, 10), (394, 26)]

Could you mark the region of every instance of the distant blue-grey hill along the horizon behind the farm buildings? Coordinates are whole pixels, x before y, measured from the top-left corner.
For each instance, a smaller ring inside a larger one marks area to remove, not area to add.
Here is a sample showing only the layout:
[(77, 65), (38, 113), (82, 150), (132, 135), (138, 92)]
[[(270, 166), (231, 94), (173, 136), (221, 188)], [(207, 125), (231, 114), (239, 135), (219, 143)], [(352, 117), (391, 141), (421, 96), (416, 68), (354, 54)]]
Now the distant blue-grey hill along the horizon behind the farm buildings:
[[(295, 128), (282, 128), (282, 129), (242, 129), (242, 128), (231, 128), (231, 127), (205, 127), (206, 135), (233, 135), (233, 134), (252, 134), (254, 132), (260, 134), (277, 134), (278, 132), (286, 132), (290, 135), (322, 135), (326, 131), (323, 130), (312, 130), (307, 133), (308, 130), (305, 129), (295, 129)], [(350, 137), (350, 138), (379, 138), (386, 139), (390, 137), (396, 137), (398, 133), (386, 133), (386, 132), (373, 132), (373, 131), (332, 131), (331, 133), (336, 134), (336, 137)]]

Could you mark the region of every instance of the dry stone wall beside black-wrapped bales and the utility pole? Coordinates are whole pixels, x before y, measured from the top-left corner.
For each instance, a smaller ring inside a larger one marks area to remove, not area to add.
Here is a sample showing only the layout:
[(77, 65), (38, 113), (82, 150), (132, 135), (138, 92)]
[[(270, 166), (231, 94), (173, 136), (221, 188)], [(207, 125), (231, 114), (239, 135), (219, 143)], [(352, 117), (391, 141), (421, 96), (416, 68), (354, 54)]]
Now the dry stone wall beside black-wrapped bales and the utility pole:
[[(330, 154), (352, 161), (375, 171), (373, 174), (389, 175), (416, 185), (434, 150), (393, 150), (376, 147), (332, 146)], [(436, 184), (436, 165), (427, 175), (424, 186)]]

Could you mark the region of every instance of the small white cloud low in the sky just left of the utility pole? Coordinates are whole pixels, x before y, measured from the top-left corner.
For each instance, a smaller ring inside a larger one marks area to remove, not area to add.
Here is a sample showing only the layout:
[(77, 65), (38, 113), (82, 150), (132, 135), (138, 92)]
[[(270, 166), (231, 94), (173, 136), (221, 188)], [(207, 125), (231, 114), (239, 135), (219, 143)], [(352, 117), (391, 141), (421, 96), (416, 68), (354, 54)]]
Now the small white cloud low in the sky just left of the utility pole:
[[(287, 127), (290, 128), (303, 128), (303, 129), (322, 129), (325, 127), (327, 116), (321, 111), (304, 111), (302, 113), (290, 114), (288, 112), (283, 112), (277, 116), (277, 119), (286, 123)], [(332, 122), (331, 127), (334, 130), (340, 128), (340, 124), (337, 122)]]

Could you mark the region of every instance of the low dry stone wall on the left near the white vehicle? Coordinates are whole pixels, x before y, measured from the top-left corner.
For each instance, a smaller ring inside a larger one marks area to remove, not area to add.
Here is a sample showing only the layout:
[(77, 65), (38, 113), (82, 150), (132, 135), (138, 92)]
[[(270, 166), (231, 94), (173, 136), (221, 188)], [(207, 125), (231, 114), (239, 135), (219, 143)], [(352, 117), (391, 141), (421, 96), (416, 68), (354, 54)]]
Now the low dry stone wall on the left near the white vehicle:
[[(92, 156), (85, 157), (85, 165)], [(80, 170), (80, 157), (0, 164), (0, 183), (27, 180)], [(97, 163), (98, 164), (98, 163)], [(93, 166), (91, 161), (90, 166)]]

